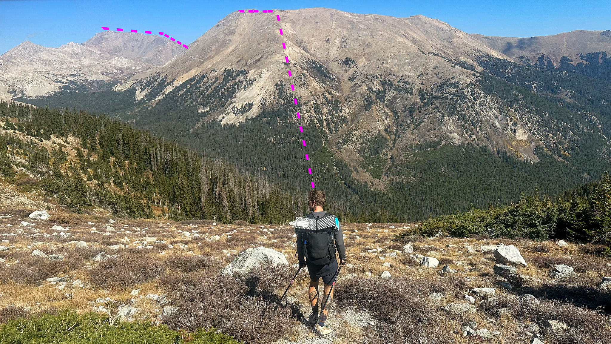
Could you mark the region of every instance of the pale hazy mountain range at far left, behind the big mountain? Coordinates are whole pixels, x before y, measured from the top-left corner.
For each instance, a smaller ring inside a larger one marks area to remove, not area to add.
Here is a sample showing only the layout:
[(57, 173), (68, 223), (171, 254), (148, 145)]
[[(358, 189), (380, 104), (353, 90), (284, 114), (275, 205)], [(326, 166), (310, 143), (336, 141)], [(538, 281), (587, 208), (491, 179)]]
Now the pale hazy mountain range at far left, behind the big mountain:
[(185, 50), (167, 39), (131, 32), (99, 32), (87, 42), (59, 48), (26, 41), (0, 56), (0, 97), (112, 88)]

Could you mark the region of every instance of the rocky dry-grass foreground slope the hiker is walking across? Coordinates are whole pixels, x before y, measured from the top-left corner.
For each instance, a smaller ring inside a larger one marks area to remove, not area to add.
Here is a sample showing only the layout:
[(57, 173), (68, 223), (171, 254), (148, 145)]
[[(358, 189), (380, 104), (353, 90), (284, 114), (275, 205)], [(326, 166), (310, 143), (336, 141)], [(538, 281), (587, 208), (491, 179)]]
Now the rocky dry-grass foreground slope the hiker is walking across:
[[(307, 272), (299, 272), (276, 307), (296, 272), (291, 227), (62, 212), (34, 220), (29, 213), (13, 209), (0, 217), (5, 342), (29, 344), (44, 335), (97, 344), (235, 344), (194, 340), (210, 327), (247, 344), (528, 344), (537, 338), (606, 344), (611, 336), (611, 263), (592, 254), (595, 245), (485, 236), (395, 239), (418, 223), (345, 223), (348, 264), (327, 320), (334, 331), (320, 338), (307, 321)], [(279, 263), (222, 274), (257, 247)], [(524, 264), (502, 260), (495, 252), (502, 249), (519, 250)]]

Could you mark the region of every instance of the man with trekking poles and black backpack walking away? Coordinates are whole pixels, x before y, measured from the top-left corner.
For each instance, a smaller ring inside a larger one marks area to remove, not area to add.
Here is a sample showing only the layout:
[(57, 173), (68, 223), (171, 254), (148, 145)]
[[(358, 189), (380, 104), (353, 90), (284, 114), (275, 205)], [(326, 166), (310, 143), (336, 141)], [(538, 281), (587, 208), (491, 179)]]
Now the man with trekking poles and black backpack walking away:
[[(323, 210), (324, 192), (321, 190), (312, 190), (308, 195), (308, 208), (310, 214), (304, 217), (310, 219), (320, 219), (326, 215), (331, 215)], [(297, 253), (299, 256), (299, 267), (307, 266), (310, 274), (310, 288), (308, 297), (310, 305), (312, 305), (312, 315), (309, 318), (310, 323), (316, 324), (316, 331), (319, 335), (331, 333), (331, 327), (325, 324), (327, 314), (331, 303), (333, 302), (333, 291), (331, 285), (337, 277), (337, 259), (335, 252), (339, 255), (340, 264), (346, 264), (346, 249), (343, 244), (343, 234), (340, 224), (335, 219), (337, 231), (323, 233), (301, 233), (297, 234)], [(318, 282), (323, 279), (324, 296), (323, 302), (327, 299), (326, 305), (321, 306), (323, 312), (318, 315)]]

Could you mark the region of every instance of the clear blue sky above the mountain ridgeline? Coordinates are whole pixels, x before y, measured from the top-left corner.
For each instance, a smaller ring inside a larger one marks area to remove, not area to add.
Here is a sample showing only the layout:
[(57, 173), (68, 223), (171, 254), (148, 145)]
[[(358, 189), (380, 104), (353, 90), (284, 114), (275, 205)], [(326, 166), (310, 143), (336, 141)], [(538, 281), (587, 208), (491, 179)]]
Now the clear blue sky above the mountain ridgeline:
[(532, 37), (611, 29), (611, 0), (598, 1), (0, 1), (0, 54), (24, 40), (82, 43), (109, 28), (164, 31), (191, 43), (238, 9), (327, 7), (393, 17), (425, 15), (468, 33)]

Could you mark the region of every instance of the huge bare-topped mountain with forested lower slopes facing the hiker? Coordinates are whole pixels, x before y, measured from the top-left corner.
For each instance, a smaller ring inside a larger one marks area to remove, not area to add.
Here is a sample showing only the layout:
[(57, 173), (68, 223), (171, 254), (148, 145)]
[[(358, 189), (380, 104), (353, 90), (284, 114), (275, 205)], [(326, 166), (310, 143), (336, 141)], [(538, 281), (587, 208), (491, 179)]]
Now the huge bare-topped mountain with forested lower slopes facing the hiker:
[[(611, 170), (611, 31), (521, 39), (466, 34), (422, 15), (276, 14), (283, 20), (230, 13), (157, 65), (144, 62), (153, 48), (97, 48), (113, 56), (104, 61), (133, 65), (89, 92), (16, 100), (103, 111), (287, 188), (315, 180), (344, 210), (425, 217), (535, 187), (557, 194)], [(120, 33), (104, 34), (107, 43), (88, 42), (126, 47), (112, 43)], [(42, 64), (23, 58), (10, 61)], [(88, 75), (78, 87), (93, 83)]]

